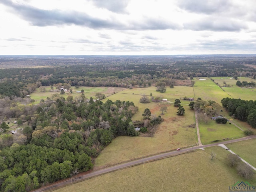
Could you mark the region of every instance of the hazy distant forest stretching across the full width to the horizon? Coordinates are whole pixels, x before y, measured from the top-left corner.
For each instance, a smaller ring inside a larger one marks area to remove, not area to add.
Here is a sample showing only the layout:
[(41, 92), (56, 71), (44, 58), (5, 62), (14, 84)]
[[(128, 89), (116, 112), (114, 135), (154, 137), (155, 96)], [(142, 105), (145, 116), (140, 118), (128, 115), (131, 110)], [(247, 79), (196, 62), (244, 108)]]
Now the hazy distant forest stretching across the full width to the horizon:
[(1, 56), (0, 97), (24, 97), (40, 86), (58, 83), (132, 87), (151, 86), (158, 81), (169, 86), (188, 77), (255, 78), (255, 64), (255, 55)]

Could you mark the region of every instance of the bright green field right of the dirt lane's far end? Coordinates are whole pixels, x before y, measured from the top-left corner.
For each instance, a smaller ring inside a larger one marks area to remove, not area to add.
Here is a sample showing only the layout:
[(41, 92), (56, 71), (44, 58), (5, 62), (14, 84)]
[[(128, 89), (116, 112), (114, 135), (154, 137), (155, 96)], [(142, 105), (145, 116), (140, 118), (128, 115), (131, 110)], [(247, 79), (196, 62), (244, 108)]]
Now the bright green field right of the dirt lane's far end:
[(219, 86), (217, 86), (210, 78), (204, 77), (202, 79), (206, 80), (199, 80), (194, 79), (195, 81), (194, 84), (194, 92), (196, 99), (200, 97), (202, 100), (208, 101), (208, 100), (213, 100), (219, 104), (220, 101), (223, 98), (230, 97), (226, 92), (224, 92)]

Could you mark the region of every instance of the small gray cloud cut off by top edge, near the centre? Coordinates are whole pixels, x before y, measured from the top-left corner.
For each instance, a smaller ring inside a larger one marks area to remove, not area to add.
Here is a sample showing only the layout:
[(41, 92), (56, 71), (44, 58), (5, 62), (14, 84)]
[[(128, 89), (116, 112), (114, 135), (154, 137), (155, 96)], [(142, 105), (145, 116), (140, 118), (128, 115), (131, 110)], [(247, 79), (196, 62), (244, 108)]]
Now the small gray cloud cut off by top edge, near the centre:
[(127, 7), (130, 0), (91, 0), (94, 5), (100, 8), (106, 8), (116, 13), (126, 13), (125, 8)]

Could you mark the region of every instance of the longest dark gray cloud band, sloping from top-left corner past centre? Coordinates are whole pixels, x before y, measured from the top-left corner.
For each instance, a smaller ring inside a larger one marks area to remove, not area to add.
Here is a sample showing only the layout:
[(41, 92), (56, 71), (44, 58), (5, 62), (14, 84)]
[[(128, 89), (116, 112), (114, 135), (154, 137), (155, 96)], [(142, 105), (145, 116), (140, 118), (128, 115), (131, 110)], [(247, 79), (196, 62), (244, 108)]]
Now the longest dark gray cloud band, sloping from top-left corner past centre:
[(178, 29), (180, 26), (173, 22), (164, 21), (162, 18), (144, 18), (141, 22), (131, 21), (123, 24), (116, 18), (100, 19), (92, 17), (83, 12), (62, 11), (62, 10), (42, 10), (36, 7), (15, 4), (10, 0), (2, 0), (0, 3), (12, 9), (20, 18), (28, 21), (34, 26), (58, 26), (58, 25), (78, 25), (89, 28), (106, 28), (116, 30), (166, 30)]

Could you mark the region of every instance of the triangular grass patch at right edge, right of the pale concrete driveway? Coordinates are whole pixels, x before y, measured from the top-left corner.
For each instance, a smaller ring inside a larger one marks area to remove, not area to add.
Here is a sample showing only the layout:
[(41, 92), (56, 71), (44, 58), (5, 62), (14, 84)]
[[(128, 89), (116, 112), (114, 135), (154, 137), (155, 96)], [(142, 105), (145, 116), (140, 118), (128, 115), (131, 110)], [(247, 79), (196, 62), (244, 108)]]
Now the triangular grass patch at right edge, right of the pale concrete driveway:
[(252, 166), (256, 167), (255, 154), (256, 154), (256, 139), (250, 139), (232, 144), (226, 144), (234, 153), (238, 154), (241, 158), (246, 160)]

